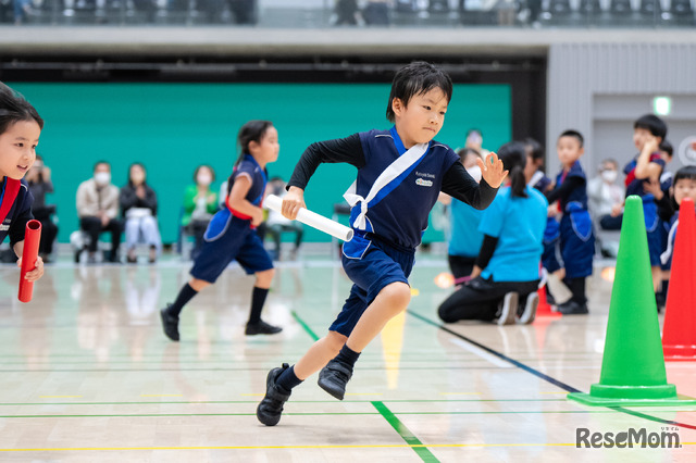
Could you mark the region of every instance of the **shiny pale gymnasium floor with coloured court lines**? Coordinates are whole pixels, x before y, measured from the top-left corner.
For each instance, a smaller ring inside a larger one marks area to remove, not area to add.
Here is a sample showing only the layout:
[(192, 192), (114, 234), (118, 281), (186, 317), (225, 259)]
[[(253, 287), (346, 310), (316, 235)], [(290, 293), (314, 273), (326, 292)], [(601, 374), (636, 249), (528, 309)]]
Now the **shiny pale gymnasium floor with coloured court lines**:
[[(245, 337), (252, 280), (233, 266), (186, 308), (174, 343), (158, 309), (187, 271), (176, 258), (154, 266), (65, 259), (22, 304), (18, 272), (0, 267), (0, 461), (696, 461), (696, 406), (566, 399), (599, 379), (611, 290), (601, 267), (589, 316), (443, 328), (435, 308), (449, 290), (434, 278), (445, 260), (419, 254), (409, 312), (362, 354), (346, 400), (312, 377), (275, 427), (254, 415), (268, 371), (325, 333), (349, 280), (327, 258), (281, 263), (265, 318), (285, 330)], [(668, 363), (667, 373), (680, 395), (696, 397), (696, 363)], [(682, 447), (579, 449), (576, 428), (675, 431)]]

